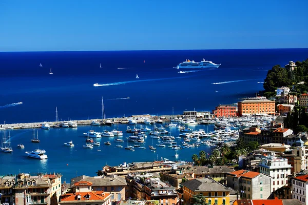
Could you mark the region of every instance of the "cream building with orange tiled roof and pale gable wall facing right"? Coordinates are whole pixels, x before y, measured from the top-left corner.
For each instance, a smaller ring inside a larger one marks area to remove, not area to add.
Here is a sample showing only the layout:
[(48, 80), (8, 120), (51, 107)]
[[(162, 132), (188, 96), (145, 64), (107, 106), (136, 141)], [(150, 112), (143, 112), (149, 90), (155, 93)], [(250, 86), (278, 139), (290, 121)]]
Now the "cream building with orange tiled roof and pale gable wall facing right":
[(241, 193), (242, 199), (267, 199), (271, 196), (272, 177), (249, 170), (227, 174), (227, 187)]

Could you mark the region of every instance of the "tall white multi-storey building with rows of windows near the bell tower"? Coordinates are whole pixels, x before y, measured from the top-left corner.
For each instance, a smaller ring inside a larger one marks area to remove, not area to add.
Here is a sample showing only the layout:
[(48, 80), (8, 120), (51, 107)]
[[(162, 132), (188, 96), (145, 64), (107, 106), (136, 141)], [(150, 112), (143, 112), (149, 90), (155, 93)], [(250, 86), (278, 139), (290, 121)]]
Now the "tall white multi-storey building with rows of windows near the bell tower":
[(291, 174), (291, 165), (287, 164), (287, 159), (282, 157), (266, 156), (261, 160), (260, 173), (267, 174), (272, 177), (271, 190), (274, 192), (287, 185), (287, 175)]

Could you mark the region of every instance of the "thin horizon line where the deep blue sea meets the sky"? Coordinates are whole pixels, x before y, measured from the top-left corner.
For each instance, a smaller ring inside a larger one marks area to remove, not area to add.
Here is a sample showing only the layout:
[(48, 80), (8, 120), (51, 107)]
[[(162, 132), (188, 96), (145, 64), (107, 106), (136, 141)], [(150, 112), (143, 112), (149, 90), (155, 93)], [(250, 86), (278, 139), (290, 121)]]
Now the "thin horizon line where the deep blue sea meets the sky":
[(204, 50), (277, 50), (277, 49), (308, 49), (308, 48), (234, 48), (234, 49), (161, 49), (161, 50), (72, 50), (72, 51), (0, 51), (0, 53), (21, 53), (21, 52), (110, 52), (110, 51), (204, 51)]

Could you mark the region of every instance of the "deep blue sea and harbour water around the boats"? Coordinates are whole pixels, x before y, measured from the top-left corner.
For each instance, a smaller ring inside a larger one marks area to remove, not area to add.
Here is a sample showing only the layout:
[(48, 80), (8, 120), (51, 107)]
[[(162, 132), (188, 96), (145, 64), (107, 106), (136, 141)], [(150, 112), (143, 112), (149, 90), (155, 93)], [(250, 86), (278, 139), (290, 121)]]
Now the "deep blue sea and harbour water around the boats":
[[(307, 57), (308, 49), (0, 52), (0, 121), (12, 124), (55, 120), (55, 107), (60, 120), (102, 118), (102, 96), (107, 117), (172, 114), (172, 108), (175, 114), (185, 110), (210, 111), (219, 104), (255, 96), (263, 89), (266, 73), (274, 65), (284, 66), (289, 60)], [(185, 59), (203, 58), (221, 66), (175, 69)], [(95, 83), (104, 86), (93, 87)], [(14, 152), (0, 153), (0, 174), (61, 172), (68, 180), (76, 174), (95, 175), (106, 163), (115, 166), (123, 161), (174, 156), (174, 150), (166, 148), (155, 154), (148, 149), (128, 153), (115, 150), (114, 144), (102, 145), (101, 152), (84, 150), (80, 147), (85, 140), (82, 135), (90, 128), (40, 130), (39, 146), (47, 151), (46, 161), (24, 156), (24, 151), (37, 148), (29, 141), (32, 130), (11, 130)], [(126, 125), (119, 128), (125, 131)], [(172, 131), (172, 135), (177, 134), (178, 131)], [(75, 148), (63, 146), (69, 140), (73, 140)], [(19, 143), (26, 148), (18, 150)], [(180, 150), (179, 158), (190, 160), (200, 150), (210, 151), (205, 146), (184, 149)]]

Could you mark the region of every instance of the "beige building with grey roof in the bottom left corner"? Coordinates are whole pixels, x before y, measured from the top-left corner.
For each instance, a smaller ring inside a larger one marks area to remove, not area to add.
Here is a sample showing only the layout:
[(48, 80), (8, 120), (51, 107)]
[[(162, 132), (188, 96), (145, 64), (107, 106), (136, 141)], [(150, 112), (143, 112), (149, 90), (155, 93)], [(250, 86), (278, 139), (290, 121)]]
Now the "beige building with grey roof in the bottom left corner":
[(18, 174), (0, 179), (2, 203), (56, 205), (61, 196), (61, 174)]

